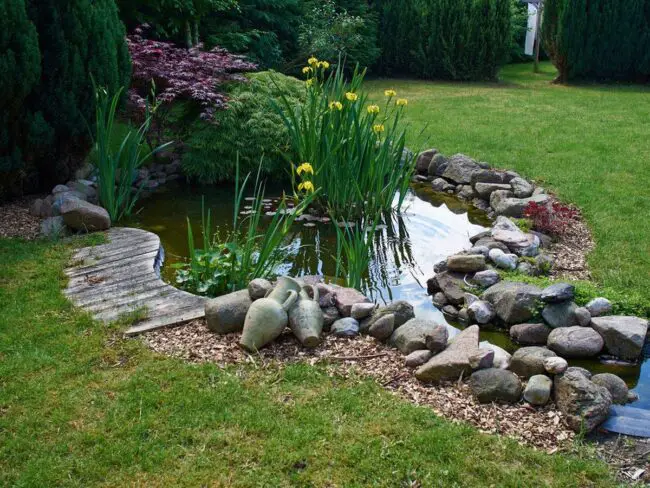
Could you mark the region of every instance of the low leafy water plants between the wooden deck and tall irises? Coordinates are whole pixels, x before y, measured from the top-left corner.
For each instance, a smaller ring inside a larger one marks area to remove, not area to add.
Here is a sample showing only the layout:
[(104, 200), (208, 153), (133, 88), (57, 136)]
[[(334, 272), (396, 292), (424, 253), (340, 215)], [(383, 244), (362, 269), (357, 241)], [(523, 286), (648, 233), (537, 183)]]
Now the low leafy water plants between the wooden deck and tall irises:
[(174, 265), (176, 283), (184, 290), (207, 296), (219, 296), (241, 290), (255, 278), (272, 278), (277, 266), (287, 254), (285, 239), (291, 225), (311, 203), (313, 194), (302, 199), (294, 208), (289, 208), (283, 197), (268, 223), (262, 220), (264, 211), (264, 182), (260, 161), (255, 183), (251, 209), (241, 217), (242, 202), (251, 173), (240, 184), (239, 160), (236, 162), (235, 201), (232, 232), (220, 236), (212, 232), (211, 212), (201, 208), (202, 247), (196, 248), (190, 220), (187, 219), (187, 243), (189, 262)]

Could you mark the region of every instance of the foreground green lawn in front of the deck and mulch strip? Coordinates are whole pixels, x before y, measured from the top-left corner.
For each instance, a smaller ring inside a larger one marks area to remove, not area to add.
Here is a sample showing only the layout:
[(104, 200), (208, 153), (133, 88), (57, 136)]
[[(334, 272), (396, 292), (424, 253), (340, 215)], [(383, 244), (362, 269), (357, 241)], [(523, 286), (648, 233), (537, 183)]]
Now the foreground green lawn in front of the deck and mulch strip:
[(63, 298), (69, 252), (0, 240), (0, 486), (614, 486), (584, 448), (533, 451), (372, 381), (157, 356)]

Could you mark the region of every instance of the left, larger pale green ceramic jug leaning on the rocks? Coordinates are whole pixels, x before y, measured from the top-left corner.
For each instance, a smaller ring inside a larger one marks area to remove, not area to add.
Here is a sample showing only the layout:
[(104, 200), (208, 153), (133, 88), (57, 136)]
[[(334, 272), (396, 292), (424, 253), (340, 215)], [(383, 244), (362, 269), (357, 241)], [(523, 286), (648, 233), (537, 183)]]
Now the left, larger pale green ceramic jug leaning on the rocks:
[(296, 302), (299, 291), (297, 281), (283, 276), (266, 297), (254, 301), (246, 314), (239, 345), (247, 351), (257, 351), (277, 339), (289, 323), (287, 311)]

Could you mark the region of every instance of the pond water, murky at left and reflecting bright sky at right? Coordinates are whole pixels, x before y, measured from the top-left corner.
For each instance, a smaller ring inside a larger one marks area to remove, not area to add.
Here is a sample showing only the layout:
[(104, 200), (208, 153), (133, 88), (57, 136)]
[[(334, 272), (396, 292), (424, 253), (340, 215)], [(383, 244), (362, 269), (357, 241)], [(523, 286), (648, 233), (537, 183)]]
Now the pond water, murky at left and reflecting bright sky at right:
[[(267, 196), (281, 194), (281, 188), (267, 189)], [(143, 200), (142, 210), (128, 225), (155, 232), (165, 249), (163, 278), (174, 283), (172, 263), (188, 256), (186, 219), (192, 222), (195, 242), (200, 242), (201, 201), (211, 209), (213, 228), (226, 235), (232, 228), (234, 189), (227, 186), (198, 187), (168, 185)], [(429, 185), (414, 184), (400, 215), (376, 232), (373, 257), (364, 292), (378, 303), (407, 300), (419, 318), (444, 321), (443, 314), (426, 293), (426, 280), (433, 265), (450, 254), (471, 247), (469, 238), (484, 230), (489, 220), (473, 207), (453, 197), (433, 192)], [(322, 275), (333, 280), (336, 272), (336, 232), (330, 225), (294, 225), (287, 260), (279, 270), (291, 276)], [(462, 325), (451, 323), (455, 327)], [(517, 349), (507, 333), (481, 331), (488, 340), (509, 352)], [(635, 407), (650, 409), (650, 360), (643, 365), (605, 364), (595, 360), (573, 360), (570, 364), (592, 371), (621, 376), (639, 394)], [(641, 379), (640, 379), (641, 378)]]

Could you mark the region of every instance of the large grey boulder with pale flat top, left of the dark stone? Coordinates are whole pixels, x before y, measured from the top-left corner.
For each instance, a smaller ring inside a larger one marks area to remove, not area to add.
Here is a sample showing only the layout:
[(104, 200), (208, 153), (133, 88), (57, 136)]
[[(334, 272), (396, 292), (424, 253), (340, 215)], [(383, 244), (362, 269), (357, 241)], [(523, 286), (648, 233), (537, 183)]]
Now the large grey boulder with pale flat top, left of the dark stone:
[(497, 316), (506, 324), (518, 324), (533, 318), (542, 290), (534, 285), (502, 281), (483, 293)]

